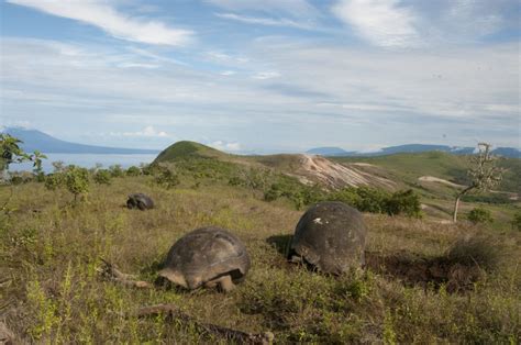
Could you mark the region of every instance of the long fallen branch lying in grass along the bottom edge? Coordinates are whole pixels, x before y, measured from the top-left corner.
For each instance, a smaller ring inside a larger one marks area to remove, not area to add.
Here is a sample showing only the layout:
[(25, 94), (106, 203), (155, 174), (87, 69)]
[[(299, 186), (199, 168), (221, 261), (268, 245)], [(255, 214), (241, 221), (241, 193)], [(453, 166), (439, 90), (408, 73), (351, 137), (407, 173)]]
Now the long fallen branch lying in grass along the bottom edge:
[(246, 333), (237, 330), (232, 330), (228, 327), (222, 327), (215, 324), (201, 323), (196, 321), (190, 315), (187, 315), (179, 311), (179, 309), (174, 304), (156, 304), (151, 307), (144, 307), (138, 309), (133, 316), (143, 318), (166, 314), (167, 318), (171, 320), (180, 320), (186, 323), (192, 323), (196, 327), (200, 329), (207, 334), (218, 335), (226, 341), (235, 341), (241, 344), (270, 344), (274, 340), (274, 334), (271, 332), (265, 333)]

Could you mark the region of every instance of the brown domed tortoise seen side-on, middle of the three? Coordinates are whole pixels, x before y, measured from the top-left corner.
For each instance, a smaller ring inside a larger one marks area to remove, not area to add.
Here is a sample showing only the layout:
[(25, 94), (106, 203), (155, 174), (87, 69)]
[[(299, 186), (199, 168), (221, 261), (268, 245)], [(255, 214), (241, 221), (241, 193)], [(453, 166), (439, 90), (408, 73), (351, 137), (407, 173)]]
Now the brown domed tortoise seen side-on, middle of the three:
[(248, 269), (244, 244), (228, 231), (209, 226), (179, 238), (168, 252), (159, 276), (188, 289), (219, 286), (230, 291)]

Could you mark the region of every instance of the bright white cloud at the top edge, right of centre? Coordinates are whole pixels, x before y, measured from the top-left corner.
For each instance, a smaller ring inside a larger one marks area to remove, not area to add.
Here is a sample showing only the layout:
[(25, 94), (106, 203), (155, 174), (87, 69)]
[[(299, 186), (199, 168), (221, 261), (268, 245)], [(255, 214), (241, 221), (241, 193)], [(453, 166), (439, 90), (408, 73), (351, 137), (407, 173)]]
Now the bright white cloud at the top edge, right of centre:
[(372, 44), (408, 47), (420, 43), (417, 16), (398, 0), (341, 0), (333, 13)]

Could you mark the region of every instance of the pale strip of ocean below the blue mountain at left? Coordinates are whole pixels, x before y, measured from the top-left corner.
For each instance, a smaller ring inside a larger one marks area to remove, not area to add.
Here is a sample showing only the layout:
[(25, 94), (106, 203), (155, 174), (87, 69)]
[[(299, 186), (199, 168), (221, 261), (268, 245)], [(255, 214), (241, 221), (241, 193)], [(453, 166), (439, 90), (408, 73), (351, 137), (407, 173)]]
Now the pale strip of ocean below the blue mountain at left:
[[(45, 172), (53, 172), (53, 162), (63, 162), (65, 165), (74, 164), (85, 168), (92, 168), (97, 163), (102, 167), (108, 168), (111, 165), (119, 164), (123, 168), (130, 166), (138, 166), (141, 163), (152, 163), (157, 155), (141, 154), (141, 155), (100, 155), (100, 154), (45, 154), (47, 159), (43, 159), (43, 169)], [(32, 170), (33, 164), (26, 162), (23, 164), (12, 164), (9, 167), (10, 171)]]

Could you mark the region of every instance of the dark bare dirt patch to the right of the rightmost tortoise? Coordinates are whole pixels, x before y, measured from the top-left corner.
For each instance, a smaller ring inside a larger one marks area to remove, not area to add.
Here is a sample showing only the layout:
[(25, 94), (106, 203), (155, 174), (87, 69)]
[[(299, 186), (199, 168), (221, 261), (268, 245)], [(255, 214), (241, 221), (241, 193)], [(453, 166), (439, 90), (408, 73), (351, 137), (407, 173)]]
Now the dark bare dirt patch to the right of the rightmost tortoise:
[(425, 258), (406, 252), (391, 255), (366, 252), (366, 268), (400, 279), (408, 286), (439, 289), (444, 285), (450, 293), (472, 290), (474, 282), (485, 274), (475, 264), (463, 264), (447, 257)]

